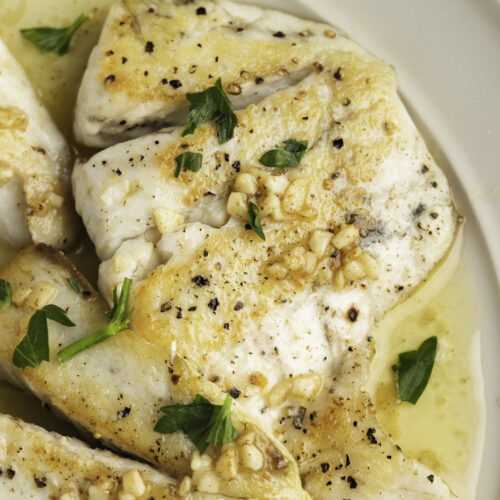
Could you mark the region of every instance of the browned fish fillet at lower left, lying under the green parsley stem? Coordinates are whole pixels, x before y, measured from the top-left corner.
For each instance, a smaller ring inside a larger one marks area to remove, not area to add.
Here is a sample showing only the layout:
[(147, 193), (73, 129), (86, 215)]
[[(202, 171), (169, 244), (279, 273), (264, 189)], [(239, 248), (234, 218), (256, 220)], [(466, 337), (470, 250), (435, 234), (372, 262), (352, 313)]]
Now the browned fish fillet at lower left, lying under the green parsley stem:
[[(235, 464), (235, 477), (214, 477), (214, 465), (225, 449), (209, 449), (200, 464), (199, 454), (193, 456), (194, 446), (183, 434), (153, 430), (162, 406), (191, 402), (196, 394), (214, 403), (225, 397), (216, 385), (200, 377), (188, 359), (164, 356), (129, 330), (60, 365), (55, 352), (62, 345), (106, 323), (105, 303), (62, 254), (46, 246), (28, 248), (0, 275), (13, 286), (12, 304), (0, 311), (4, 378), (28, 388), (103, 442), (146, 459), (180, 480), (188, 477), (184, 483), (191, 483), (194, 491), (229, 497), (307, 497), (293, 458), (253, 417), (240, 411), (237, 402), (231, 410), (233, 425), (244, 431), (243, 438), (254, 442), (262, 462), (257, 470), (243, 462), (239, 469)], [(68, 285), (68, 277), (78, 280), (81, 295)], [(19, 370), (11, 362), (14, 348), (35, 309), (48, 302), (68, 311), (77, 326), (69, 329), (51, 322), (52, 360)], [(244, 444), (239, 441), (240, 446)]]

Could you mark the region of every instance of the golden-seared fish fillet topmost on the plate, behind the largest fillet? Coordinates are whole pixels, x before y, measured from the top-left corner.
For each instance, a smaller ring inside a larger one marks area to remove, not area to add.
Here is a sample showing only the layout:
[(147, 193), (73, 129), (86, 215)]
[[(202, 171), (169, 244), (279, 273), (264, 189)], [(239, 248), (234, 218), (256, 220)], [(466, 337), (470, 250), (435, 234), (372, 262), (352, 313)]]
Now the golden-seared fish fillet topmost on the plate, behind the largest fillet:
[(107, 146), (184, 120), (186, 93), (222, 78), (238, 108), (321, 67), (371, 58), (331, 26), (241, 3), (120, 0), (80, 87), (75, 136)]

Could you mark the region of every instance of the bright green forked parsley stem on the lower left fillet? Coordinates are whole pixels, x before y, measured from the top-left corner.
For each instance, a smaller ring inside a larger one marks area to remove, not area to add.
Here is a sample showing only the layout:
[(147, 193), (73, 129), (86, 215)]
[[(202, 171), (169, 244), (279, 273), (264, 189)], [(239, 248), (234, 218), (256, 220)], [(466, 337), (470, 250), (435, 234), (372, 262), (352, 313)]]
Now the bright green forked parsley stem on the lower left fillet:
[(119, 299), (116, 287), (113, 289), (113, 308), (111, 309), (111, 311), (108, 311), (106, 313), (111, 321), (104, 328), (101, 328), (97, 332), (92, 333), (91, 335), (87, 335), (87, 337), (83, 337), (76, 342), (73, 342), (68, 347), (65, 347), (64, 349), (59, 351), (57, 353), (57, 359), (60, 363), (65, 363), (73, 356), (76, 356), (78, 353), (84, 351), (85, 349), (99, 344), (100, 342), (103, 342), (109, 337), (113, 337), (123, 330), (127, 330), (130, 323), (130, 317), (134, 312), (134, 310), (131, 309), (127, 313), (131, 288), (132, 280), (129, 278), (125, 278), (123, 280), (122, 291), (120, 293)]

